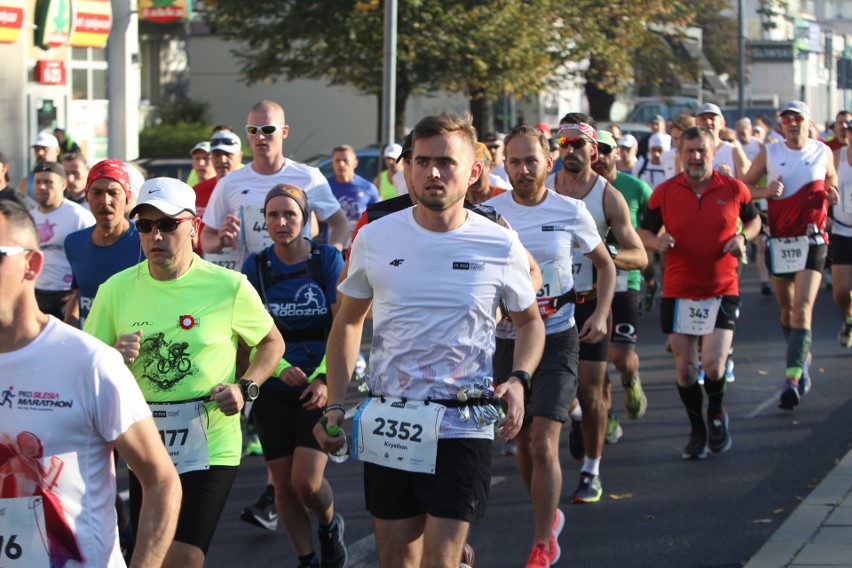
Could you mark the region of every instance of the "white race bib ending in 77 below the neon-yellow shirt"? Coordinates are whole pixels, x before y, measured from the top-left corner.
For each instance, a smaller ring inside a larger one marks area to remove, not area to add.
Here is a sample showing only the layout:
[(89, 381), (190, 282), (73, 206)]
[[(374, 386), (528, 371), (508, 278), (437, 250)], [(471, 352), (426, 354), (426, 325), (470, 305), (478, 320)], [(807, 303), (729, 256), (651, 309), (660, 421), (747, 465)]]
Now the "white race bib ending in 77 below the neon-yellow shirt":
[(178, 474), (210, 469), (207, 409), (204, 408), (204, 402), (149, 402), (148, 406)]

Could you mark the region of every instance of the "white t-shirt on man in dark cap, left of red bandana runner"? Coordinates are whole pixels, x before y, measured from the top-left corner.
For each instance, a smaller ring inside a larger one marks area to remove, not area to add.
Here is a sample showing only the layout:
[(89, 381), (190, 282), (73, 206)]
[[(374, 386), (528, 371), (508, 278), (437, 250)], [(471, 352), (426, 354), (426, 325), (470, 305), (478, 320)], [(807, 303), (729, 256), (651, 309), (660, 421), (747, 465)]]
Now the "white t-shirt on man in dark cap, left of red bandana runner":
[(38, 241), (44, 253), (44, 268), (36, 281), (36, 288), (45, 291), (71, 289), (71, 265), (65, 257), (65, 237), (95, 224), (94, 216), (67, 199), (49, 213), (38, 207), (30, 211), (38, 229)]

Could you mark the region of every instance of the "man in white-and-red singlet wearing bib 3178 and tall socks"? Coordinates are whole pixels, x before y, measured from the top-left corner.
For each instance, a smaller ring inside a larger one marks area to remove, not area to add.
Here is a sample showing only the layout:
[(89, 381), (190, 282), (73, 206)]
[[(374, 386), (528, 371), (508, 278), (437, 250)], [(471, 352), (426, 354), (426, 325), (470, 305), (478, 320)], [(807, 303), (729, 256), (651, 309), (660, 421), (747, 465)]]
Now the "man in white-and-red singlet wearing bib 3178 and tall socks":
[[(781, 109), (784, 141), (768, 144), (745, 178), (752, 197), (769, 199), (766, 262), (787, 341), (786, 379), (779, 408), (792, 410), (811, 388), (811, 316), (825, 268), (829, 199), (837, 203), (837, 174), (828, 146), (811, 140), (807, 105)], [(766, 187), (757, 187), (766, 176)]]

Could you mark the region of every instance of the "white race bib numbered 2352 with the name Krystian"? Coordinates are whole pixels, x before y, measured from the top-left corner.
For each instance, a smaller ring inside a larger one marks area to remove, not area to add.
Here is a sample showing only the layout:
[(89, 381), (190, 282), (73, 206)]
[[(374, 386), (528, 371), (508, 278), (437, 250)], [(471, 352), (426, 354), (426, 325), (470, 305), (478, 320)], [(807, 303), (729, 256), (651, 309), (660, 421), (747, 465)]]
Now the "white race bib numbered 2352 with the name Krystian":
[(368, 398), (355, 413), (352, 455), (393, 469), (434, 474), (446, 410), (434, 402)]

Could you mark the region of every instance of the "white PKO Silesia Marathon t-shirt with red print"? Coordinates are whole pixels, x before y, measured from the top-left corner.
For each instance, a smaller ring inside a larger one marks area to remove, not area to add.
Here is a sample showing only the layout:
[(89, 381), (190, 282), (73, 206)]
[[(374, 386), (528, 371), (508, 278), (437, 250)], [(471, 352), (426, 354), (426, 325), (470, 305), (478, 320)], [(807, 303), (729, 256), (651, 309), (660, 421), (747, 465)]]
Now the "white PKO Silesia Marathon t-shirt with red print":
[(64, 548), (66, 567), (123, 567), (112, 442), (151, 411), (121, 355), (51, 317), (0, 354), (0, 376), (0, 526), (15, 528), (20, 565)]

